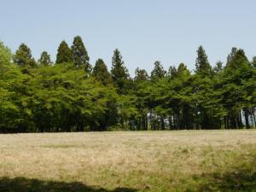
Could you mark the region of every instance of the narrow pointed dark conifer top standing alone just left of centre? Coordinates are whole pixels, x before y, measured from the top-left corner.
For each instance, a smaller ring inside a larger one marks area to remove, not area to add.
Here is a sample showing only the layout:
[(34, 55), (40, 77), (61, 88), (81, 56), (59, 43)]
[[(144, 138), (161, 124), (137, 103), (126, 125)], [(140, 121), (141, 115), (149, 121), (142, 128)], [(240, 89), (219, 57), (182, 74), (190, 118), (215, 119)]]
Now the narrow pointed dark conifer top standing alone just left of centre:
[(121, 94), (127, 92), (127, 87), (129, 87), (130, 84), (130, 75), (125, 67), (119, 49), (113, 51), (111, 74), (113, 83), (116, 85), (118, 92)]

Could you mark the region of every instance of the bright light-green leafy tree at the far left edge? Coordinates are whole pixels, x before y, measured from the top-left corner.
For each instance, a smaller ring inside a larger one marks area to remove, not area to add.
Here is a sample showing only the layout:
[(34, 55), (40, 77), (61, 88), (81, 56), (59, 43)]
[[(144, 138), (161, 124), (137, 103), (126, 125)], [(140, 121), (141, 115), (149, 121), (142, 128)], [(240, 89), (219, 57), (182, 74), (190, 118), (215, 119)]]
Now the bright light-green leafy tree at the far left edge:
[[(17, 126), (25, 118), (25, 96), (28, 79), (21, 73), (20, 67), (6, 63), (8, 67), (0, 73), (0, 131), (17, 131)], [(6, 80), (8, 79), (8, 80)]]

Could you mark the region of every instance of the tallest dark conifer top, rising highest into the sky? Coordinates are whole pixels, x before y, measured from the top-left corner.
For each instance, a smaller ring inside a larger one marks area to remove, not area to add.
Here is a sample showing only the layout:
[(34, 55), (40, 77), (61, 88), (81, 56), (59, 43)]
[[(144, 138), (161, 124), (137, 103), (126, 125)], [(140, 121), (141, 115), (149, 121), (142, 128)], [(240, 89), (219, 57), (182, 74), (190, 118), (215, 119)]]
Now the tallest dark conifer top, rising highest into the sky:
[(71, 46), (72, 60), (75, 67), (84, 67), (87, 73), (90, 72), (91, 66), (89, 63), (89, 56), (87, 50), (84, 47), (84, 43), (81, 37), (76, 36), (73, 38), (73, 45)]

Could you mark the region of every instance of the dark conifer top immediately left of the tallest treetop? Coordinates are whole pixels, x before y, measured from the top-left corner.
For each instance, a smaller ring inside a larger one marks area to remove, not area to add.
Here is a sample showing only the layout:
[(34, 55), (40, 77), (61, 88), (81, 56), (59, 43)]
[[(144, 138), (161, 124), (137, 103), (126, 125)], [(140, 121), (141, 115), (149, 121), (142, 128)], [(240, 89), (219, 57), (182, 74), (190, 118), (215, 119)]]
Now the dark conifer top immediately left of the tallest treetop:
[(56, 55), (56, 63), (72, 62), (71, 49), (69, 49), (67, 43), (63, 40), (58, 48)]

